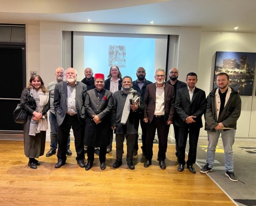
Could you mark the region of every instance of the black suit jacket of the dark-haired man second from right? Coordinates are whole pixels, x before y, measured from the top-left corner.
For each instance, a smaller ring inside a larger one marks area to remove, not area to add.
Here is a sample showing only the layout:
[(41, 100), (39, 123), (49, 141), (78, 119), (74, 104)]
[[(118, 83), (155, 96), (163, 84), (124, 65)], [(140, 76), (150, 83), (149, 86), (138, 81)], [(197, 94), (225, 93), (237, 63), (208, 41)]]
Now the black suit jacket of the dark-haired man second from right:
[[(195, 88), (190, 101), (190, 94), (187, 87), (182, 87), (177, 90), (175, 100), (175, 111), (177, 113), (175, 125), (186, 127), (203, 127), (202, 115), (206, 109), (206, 96), (202, 89)], [(196, 123), (187, 124), (185, 120), (188, 116), (195, 116)]]

